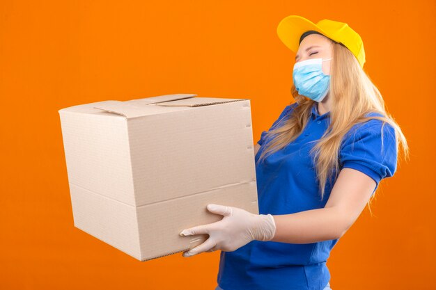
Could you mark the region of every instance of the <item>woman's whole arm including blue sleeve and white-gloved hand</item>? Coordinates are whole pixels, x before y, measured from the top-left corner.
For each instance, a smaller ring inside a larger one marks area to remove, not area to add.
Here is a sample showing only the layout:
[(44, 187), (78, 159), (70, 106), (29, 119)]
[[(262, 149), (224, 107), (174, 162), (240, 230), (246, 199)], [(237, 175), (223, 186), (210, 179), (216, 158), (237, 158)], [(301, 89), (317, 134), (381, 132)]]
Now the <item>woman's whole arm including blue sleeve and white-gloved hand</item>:
[(183, 255), (189, 257), (213, 250), (233, 251), (252, 240), (313, 243), (343, 236), (361, 214), (380, 180), (393, 176), (396, 171), (394, 129), (384, 128), (386, 136), (382, 142), (380, 129), (383, 127), (380, 125), (359, 127), (357, 134), (345, 140), (340, 153), (343, 169), (324, 208), (272, 216), (208, 204), (209, 211), (224, 218), (183, 230), (181, 236), (209, 234), (208, 240)]

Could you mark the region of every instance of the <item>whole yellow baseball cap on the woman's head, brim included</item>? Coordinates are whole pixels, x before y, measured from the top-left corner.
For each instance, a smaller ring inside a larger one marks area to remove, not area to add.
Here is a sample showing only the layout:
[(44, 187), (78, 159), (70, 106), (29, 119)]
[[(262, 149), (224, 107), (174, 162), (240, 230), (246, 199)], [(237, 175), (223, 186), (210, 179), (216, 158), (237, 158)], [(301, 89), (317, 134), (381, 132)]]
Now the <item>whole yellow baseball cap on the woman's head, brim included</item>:
[(360, 35), (352, 30), (346, 23), (322, 19), (314, 24), (304, 17), (289, 15), (281, 19), (281, 22), (277, 26), (277, 35), (279, 35), (280, 40), (286, 45), (286, 47), (297, 53), (299, 38), (304, 32), (309, 30), (318, 31), (319, 33), (322, 33), (322, 35), (327, 36), (327, 38), (336, 42), (341, 42), (345, 47), (350, 49), (352, 54), (355, 55), (360, 66), (364, 67), (364, 42), (361, 40)]

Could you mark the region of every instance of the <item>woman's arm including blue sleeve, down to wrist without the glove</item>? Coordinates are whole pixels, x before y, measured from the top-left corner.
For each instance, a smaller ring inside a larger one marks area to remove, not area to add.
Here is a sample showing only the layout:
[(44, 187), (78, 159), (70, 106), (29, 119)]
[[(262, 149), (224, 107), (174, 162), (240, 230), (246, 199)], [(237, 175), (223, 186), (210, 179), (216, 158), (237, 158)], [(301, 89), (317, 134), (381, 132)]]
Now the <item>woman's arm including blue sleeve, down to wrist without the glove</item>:
[(343, 168), (322, 209), (274, 216), (272, 241), (313, 243), (338, 239), (357, 220), (380, 180), (396, 171), (396, 132), (389, 124), (367, 122), (350, 131), (339, 159)]

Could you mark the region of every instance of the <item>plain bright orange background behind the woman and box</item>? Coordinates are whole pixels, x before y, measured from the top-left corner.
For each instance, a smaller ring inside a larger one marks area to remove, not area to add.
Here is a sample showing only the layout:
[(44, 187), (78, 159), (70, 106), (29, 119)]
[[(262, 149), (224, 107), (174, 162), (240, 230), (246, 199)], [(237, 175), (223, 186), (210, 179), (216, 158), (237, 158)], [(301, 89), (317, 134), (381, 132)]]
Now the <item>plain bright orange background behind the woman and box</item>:
[[(400, 3), (398, 3), (400, 2)], [(139, 262), (73, 225), (58, 110), (171, 93), (290, 96), (287, 15), (357, 31), (410, 145), (327, 261), (334, 290), (435, 289), (435, 1), (0, 1), (0, 289), (215, 289), (219, 252)], [(422, 105), (422, 106), (421, 106)]]

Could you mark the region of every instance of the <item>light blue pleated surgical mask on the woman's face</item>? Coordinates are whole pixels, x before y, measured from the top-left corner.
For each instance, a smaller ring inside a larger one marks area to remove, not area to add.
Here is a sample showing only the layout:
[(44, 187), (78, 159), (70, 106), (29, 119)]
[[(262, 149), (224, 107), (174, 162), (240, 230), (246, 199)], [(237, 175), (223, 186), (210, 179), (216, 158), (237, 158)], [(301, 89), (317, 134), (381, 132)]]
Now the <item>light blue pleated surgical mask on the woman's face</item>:
[(306, 61), (295, 63), (293, 70), (293, 81), (299, 95), (304, 95), (321, 102), (329, 91), (330, 76), (322, 72), (322, 58), (311, 58)]

